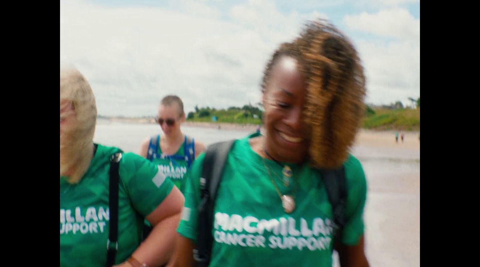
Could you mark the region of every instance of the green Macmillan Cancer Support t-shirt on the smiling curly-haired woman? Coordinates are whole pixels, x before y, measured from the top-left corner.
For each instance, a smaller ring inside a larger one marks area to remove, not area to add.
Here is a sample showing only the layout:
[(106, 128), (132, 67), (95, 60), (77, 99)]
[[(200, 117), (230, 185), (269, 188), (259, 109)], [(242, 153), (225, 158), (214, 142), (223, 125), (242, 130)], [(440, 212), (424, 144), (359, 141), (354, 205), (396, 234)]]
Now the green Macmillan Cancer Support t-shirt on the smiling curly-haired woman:
[[(332, 266), (332, 206), (320, 174), (307, 164), (292, 165), (298, 185), (285, 187), (272, 173), (282, 194), (295, 196), (296, 209), (287, 214), (265, 170), (262, 158), (237, 140), (228, 154), (214, 209), (214, 245), (210, 267)], [(178, 232), (196, 240), (197, 207), (204, 154), (186, 176), (185, 208)], [(265, 159), (278, 176), (282, 167)], [(348, 185), (347, 224), (342, 243), (357, 245), (363, 235), (367, 183), (360, 162), (345, 163)], [(294, 193), (296, 191), (296, 193)]]

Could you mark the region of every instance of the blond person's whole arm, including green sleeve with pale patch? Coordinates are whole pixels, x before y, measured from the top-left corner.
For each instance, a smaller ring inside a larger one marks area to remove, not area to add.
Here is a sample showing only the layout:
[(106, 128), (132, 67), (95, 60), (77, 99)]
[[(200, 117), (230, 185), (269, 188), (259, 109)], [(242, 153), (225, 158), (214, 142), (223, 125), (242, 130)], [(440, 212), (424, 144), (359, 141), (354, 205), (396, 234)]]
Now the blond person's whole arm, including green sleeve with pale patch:
[(152, 225), (148, 237), (132, 253), (138, 263), (124, 262), (120, 266), (137, 267), (144, 263), (149, 267), (161, 266), (167, 263), (173, 251), (175, 229), (185, 199), (155, 164), (139, 155), (125, 153), (119, 173), (120, 184), (132, 203), (132, 209)]

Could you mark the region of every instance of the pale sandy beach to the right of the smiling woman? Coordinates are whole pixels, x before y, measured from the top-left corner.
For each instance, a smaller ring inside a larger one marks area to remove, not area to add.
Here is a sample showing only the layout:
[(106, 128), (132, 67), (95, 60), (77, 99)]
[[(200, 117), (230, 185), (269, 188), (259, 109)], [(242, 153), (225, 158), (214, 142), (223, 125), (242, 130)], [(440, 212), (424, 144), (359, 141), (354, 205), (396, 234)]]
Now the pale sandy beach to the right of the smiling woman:
[(364, 220), (370, 266), (420, 266), (420, 141), (418, 132), (404, 134), (404, 143), (400, 138), (396, 143), (394, 131), (361, 130), (355, 142), (354, 155), (368, 183)]

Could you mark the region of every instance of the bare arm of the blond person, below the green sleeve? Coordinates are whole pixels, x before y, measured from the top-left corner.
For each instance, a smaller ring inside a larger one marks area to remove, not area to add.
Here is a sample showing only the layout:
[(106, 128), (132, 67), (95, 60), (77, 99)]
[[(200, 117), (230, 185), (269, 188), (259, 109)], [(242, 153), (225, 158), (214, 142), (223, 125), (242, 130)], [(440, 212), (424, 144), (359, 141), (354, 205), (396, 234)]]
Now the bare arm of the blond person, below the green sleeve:
[(180, 222), (184, 198), (177, 187), (173, 187), (167, 198), (146, 216), (152, 224), (152, 232), (140, 245), (132, 257), (148, 267), (158, 267), (167, 263), (170, 258), (176, 237), (175, 229)]

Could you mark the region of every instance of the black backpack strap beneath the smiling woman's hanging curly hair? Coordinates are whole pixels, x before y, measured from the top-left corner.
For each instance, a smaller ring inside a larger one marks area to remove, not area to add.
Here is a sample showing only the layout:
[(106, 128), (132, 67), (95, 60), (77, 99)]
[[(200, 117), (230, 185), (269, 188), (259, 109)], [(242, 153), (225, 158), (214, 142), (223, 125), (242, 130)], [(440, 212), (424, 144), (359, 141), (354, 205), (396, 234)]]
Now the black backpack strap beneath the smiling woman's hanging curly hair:
[(347, 179), (345, 178), (345, 167), (342, 166), (335, 170), (320, 169), (320, 174), (324, 181), (328, 200), (332, 205), (335, 223), (333, 237), (335, 240), (342, 236), (343, 227), (345, 226), (345, 223), (347, 223), (345, 211), (348, 192)]

